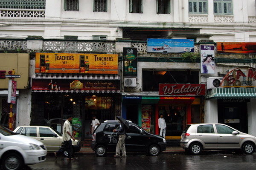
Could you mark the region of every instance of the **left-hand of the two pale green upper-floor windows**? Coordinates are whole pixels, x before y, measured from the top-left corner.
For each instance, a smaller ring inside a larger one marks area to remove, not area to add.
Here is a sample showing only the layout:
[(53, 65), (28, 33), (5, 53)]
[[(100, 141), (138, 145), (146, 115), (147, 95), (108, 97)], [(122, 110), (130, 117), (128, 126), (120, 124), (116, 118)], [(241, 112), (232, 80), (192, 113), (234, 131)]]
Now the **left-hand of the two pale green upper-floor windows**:
[(207, 0), (189, 0), (189, 13), (207, 14)]

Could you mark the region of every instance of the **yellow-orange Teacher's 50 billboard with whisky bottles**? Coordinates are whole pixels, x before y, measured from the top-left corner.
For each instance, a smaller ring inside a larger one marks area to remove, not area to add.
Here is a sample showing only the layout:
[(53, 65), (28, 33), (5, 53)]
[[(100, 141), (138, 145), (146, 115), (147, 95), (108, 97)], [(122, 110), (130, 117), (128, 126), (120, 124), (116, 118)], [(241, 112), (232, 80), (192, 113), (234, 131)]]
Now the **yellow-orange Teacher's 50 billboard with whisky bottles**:
[(36, 53), (35, 73), (118, 74), (118, 55)]

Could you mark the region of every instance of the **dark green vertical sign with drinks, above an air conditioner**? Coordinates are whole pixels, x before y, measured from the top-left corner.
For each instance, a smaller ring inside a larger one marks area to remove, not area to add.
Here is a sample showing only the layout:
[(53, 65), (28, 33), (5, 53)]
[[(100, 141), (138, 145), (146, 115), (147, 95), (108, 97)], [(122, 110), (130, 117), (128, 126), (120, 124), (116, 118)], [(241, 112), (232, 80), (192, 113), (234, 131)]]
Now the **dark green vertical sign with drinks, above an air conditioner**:
[(137, 77), (137, 48), (123, 48), (123, 76)]

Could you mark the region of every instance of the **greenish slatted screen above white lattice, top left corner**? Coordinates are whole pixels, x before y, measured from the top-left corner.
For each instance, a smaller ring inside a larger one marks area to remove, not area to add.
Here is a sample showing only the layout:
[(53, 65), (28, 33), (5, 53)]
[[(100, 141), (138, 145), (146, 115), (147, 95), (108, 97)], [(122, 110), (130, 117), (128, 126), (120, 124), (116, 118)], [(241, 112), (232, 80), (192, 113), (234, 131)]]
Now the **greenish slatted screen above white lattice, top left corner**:
[(0, 0), (1, 9), (45, 9), (45, 0)]

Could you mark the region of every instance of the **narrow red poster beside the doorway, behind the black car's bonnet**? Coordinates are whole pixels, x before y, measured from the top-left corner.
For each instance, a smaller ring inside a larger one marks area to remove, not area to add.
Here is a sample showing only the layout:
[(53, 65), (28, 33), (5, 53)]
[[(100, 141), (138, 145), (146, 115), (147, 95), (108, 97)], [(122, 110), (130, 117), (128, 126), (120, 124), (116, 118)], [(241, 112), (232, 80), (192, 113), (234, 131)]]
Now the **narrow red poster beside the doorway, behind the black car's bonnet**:
[(141, 127), (150, 133), (151, 105), (141, 106)]

